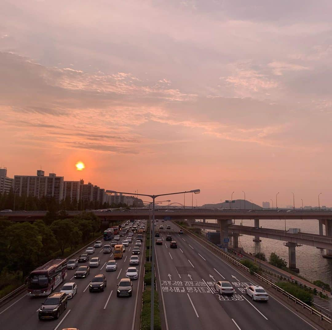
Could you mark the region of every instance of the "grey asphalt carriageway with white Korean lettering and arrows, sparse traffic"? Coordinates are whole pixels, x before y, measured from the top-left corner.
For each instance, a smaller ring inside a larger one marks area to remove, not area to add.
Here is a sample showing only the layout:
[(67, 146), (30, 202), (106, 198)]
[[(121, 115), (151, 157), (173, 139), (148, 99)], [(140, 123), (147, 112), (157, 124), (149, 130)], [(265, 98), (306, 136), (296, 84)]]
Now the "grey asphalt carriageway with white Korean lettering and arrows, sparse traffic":
[[(271, 295), (268, 302), (251, 301), (244, 289), (256, 283), (191, 236), (178, 234), (174, 223), (159, 221), (155, 228), (161, 224), (164, 228), (171, 225), (171, 230), (160, 231), (163, 245), (155, 245), (157, 286), (164, 301), (166, 329), (316, 329)], [(169, 247), (167, 234), (178, 242), (177, 249)], [(217, 294), (213, 283), (219, 280), (231, 282), (236, 293), (232, 297)]]

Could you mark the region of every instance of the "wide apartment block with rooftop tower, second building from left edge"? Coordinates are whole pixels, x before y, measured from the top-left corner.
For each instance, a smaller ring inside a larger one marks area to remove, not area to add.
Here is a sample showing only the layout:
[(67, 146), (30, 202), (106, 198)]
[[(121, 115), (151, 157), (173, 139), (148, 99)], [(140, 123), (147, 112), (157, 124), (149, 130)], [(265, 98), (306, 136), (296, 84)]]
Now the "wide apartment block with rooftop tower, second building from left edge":
[(45, 176), (42, 170), (37, 175), (15, 175), (13, 189), (19, 196), (54, 197), (59, 202), (63, 198), (63, 176), (55, 173)]

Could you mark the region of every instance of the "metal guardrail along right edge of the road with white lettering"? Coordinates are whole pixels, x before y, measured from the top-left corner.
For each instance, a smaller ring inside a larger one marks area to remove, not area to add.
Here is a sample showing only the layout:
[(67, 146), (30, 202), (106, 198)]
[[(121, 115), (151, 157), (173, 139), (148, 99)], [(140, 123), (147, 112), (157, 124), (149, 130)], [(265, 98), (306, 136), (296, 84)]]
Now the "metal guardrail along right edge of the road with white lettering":
[[(208, 241), (206, 241), (205, 239), (198, 237), (197, 235), (195, 235), (194, 233), (192, 233), (191, 231), (187, 230), (186, 228), (182, 227), (181, 225), (177, 224), (177, 226), (181, 227), (184, 231), (186, 231), (188, 234), (194, 236), (196, 239), (204, 242), (210, 249), (216, 251), (217, 253), (223, 255), (224, 257), (226, 257), (229, 261), (231, 261), (234, 265), (244, 269), (246, 272), (251, 273), (250, 269), (244, 265), (242, 265), (240, 262), (238, 262), (236, 259), (233, 258), (233, 256), (231, 256), (229, 253), (221, 251), (221, 249), (216, 248), (215, 246), (213, 246), (211, 243), (209, 243)], [(303, 301), (301, 301), (300, 299), (292, 296), (291, 294), (289, 294), (287, 291), (285, 291), (284, 289), (278, 287), (277, 285), (275, 285), (274, 283), (270, 282), (268, 279), (266, 279), (265, 277), (253, 272), (251, 273), (252, 275), (254, 275), (255, 277), (259, 278), (261, 281), (265, 282), (266, 284), (268, 284), (269, 286), (271, 286), (271, 288), (275, 289), (277, 292), (280, 292), (282, 295), (285, 295), (288, 297), (288, 299), (293, 300), (295, 303), (299, 304), (302, 306), (302, 308), (307, 309), (311, 312), (311, 314), (315, 314), (317, 316), (319, 316), (320, 320), (322, 321), (326, 321), (328, 323), (332, 323), (331, 318), (325, 316), (324, 314), (322, 314), (321, 312), (319, 312), (318, 310), (316, 310), (315, 308), (312, 308), (311, 306), (307, 305), (306, 303), (304, 303)]]

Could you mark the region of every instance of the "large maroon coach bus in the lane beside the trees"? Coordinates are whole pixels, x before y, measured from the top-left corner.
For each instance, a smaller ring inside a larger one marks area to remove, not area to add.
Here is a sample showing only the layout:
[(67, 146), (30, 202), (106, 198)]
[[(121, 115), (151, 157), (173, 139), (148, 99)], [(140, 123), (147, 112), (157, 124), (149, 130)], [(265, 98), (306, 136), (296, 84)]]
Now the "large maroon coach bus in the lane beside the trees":
[(67, 259), (53, 259), (28, 277), (28, 296), (48, 296), (67, 277)]

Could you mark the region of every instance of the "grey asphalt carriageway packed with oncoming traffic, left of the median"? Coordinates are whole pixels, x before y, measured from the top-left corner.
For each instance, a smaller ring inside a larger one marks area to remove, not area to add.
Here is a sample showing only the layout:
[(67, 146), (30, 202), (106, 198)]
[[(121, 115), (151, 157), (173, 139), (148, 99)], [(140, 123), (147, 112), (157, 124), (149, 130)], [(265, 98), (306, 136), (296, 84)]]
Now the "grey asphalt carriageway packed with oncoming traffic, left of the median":
[[(138, 299), (138, 291), (142, 291), (142, 277), (144, 260), (142, 262), (144, 244), (140, 247), (139, 255), (140, 264), (138, 280), (133, 280), (132, 297), (117, 297), (117, 285), (121, 278), (125, 277), (125, 271), (129, 267), (129, 258), (132, 255), (131, 250), (135, 245), (135, 237), (132, 243), (125, 248), (124, 256), (118, 259), (118, 269), (115, 272), (106, 272), (105, 263), (113, 259), (113, 253), (103, 253), (102, 247), (96, 248), (95, 253), (91, 257), (98, 256), (101, 260), (100, 266), (90, 268), (90, 274), (85, 279), (73, 278), (75, 270), (67, 270), (66, 282), (75, 282), (78, 286), (77, 294), (68, 300), (67, 309), (60, 314), (58, 320), (42, 320), (38, 319), (38, 309), (46, 297), (28, 297), (26, 292), (21, 296), (15, 297), (6, 305), (0, 308), (0, 324), (7, 330), (61, 330), (67, 327), (77, 327), (79, 330), (92, 329), (110, 329), (117, 330), (134, 330), (139, 329), (139, 314), (141, 310), (141, 298)], [(120, 241), (124, 237), (120, 237)], [(103, 244), (110, 241), (103, 241)], [(112, 251), (114, 248), (112, 248)], [(78, 257), (78, 255), (77, 255)], [(74, 257), (73, 257), (74, 259)], [(87, 265), (87, 263), (79, 263), (79, 266)], [(105, 274), (107, 278), (107, 287), (104, 292), (89, 292), (89, 283), (96, 274)], [(138, 287), (138, 283), (140, 283)], [(55, 292), (60, 291), (60, 284)], [(138, 315), (138, 317), (137, 317)], [(135, 317), (136, 316), (136, 317)], [(134, 324), (136, 322), (137, 326)]]

